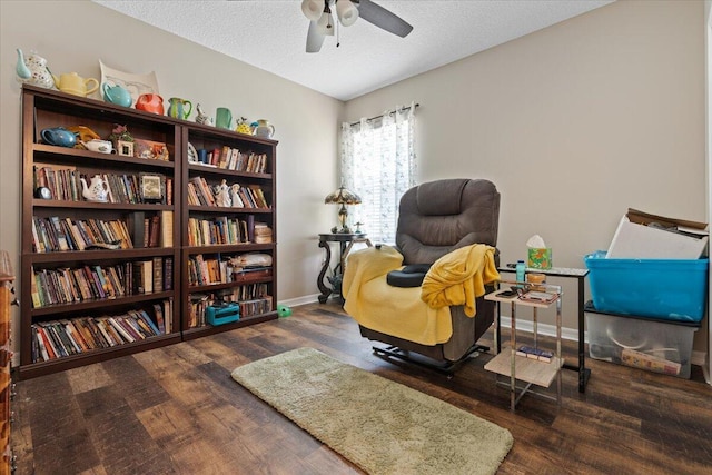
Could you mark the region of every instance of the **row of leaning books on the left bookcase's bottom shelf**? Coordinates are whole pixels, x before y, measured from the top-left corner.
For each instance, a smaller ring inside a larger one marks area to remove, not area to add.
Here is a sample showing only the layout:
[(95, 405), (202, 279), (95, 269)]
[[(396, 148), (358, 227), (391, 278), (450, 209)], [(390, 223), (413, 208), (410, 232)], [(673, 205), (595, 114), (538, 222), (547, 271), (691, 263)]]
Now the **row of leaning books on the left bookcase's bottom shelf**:
[(139, 309), (115, 316), (32, 324), (32, 363), (110, 348), (171, 333), (172, 299), (154, 304), (152, 310), (152, 317), (148, 311)]

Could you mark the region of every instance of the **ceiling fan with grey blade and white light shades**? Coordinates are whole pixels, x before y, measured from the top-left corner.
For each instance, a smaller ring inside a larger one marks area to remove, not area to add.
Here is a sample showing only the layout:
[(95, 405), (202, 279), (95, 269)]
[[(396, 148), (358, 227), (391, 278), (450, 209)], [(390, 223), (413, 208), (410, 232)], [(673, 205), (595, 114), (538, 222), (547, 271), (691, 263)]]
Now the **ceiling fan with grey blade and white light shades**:
[(309, 19), (307, 52), (318, 52), (324, 38), (334, 34), (332, 9), (336, 10), (336, 18), (344, 27), (354, 24), (360, 17), (402, 38), (413, 30), (413, 27), (400, 17), (370, 0), (303, 0), (301, 12)]

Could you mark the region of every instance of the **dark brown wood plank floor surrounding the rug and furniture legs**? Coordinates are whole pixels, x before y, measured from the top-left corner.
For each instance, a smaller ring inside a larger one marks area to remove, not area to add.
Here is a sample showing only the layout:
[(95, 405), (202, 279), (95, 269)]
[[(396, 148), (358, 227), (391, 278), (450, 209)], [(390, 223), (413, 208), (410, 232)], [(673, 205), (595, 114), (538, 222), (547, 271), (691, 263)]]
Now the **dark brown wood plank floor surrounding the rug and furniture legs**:
[[(587, 360), (585, 394), (565, 370), (561, 407), (525, 396), (513, 414), (508, 393), (483, 368), (491, 355), (467, 362), (452, 380), (387, 363), (332, 304), (20, 382), (17, 473), (362, 473), (229, 377), (237, 366), (304, 346), (506, 427), (515, 443), (501, 474), (712, 473), (712, 387), (699, 367), (685, 380)], [(571, 363), (574, 354), (566, 345)]]

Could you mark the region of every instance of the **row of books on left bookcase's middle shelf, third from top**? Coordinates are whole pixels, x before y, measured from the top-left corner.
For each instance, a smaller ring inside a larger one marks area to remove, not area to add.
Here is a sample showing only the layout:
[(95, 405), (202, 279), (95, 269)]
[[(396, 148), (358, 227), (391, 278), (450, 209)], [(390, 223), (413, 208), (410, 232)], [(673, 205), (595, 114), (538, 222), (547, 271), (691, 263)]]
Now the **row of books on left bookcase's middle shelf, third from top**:
[(132, 247), (131, 235), (121, 219), (32, 218), (32, 248), (36, 253)]

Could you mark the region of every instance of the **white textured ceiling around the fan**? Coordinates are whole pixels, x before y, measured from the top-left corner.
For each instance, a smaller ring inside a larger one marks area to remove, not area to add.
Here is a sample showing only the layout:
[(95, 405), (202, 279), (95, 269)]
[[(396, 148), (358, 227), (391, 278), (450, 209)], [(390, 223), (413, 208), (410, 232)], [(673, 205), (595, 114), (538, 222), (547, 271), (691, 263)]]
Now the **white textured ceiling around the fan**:
[[(358, 19), (306, 53), (300, 0), (96, 3), (310, 89), (348, 100), (575, 17), (612, 0), (375, 0), (414, 29), (399, 38)], [(339, 24), (340, 27), (340, 24)]]

